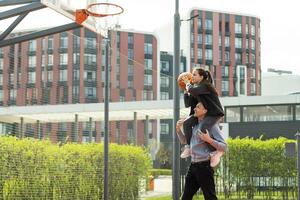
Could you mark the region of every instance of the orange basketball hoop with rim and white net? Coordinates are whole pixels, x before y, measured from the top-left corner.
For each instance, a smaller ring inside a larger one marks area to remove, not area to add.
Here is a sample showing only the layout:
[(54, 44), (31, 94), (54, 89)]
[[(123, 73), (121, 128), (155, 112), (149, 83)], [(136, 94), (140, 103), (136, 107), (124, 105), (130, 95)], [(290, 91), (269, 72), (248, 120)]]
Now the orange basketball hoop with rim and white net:
[[(104, 37), (107, 37), (108, 30), (114, 29), (119, 23), (119, 16), (124, 9), (113, 3), (92, 3), (86, 9), (78, 9), (75, 12), (75, 21), (78, 24), (84, 23), (88, 17), (94, 23), (96, 30)], [(105, 17), (104, 19), (102, 19)]]

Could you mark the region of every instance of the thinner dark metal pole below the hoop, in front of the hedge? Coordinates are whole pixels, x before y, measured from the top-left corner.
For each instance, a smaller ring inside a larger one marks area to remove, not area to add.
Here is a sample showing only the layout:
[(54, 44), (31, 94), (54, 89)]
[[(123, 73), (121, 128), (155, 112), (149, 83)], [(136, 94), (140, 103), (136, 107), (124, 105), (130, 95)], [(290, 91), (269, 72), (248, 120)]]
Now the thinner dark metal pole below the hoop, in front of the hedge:
[(106, 38), (105, 44), (105, 96), (104, 96), (104, 200), (108, 200), (108, 137), (109, 137), (109, 117), (108, 117), (108, 104), (109, 104), (109, 37)]

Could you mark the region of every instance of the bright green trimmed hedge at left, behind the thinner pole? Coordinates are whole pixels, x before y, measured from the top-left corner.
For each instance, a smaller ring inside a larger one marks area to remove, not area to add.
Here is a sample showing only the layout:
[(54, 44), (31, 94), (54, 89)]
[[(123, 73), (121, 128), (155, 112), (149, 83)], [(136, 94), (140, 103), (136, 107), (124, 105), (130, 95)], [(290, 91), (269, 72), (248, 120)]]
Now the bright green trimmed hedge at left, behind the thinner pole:
[[(0, 137), (0, 199), (102, 199), (103, 163), (103, 144)], [(138, 199), (150, 168), (144, 149), (110, 144), (109, 199)]]

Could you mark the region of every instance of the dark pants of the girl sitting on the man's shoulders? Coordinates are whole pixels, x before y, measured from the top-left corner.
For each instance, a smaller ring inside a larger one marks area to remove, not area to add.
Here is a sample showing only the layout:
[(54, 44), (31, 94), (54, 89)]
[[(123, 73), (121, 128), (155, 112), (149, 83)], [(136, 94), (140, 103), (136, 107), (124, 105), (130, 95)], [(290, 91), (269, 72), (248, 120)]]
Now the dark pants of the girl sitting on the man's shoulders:
[[(219, 121), (220, 116), (206, 116), (203, 119), (201, 132), (206, 133), (206, 130), (210, 130), (210, 128)], [(198, 124), (198, 118), (194, 117), (194, 115), (190, 115), (183, 122), (183, 131), (186, 138), (186, 142), (188, 145), (191, 143), (191, 138), (193, 134), (193, 127)]]

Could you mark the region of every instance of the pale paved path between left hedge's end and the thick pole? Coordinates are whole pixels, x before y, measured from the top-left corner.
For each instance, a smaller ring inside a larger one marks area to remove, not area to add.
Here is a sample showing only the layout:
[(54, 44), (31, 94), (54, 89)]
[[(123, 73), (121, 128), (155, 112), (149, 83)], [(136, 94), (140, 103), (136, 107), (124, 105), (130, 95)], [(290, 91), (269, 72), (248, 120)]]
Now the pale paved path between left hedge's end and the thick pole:
[(172, 194), (172, 177), (159, 176), (154, 179), (154, 190), (141, 194), (141, 199), (148, 197), (168, 196)]

